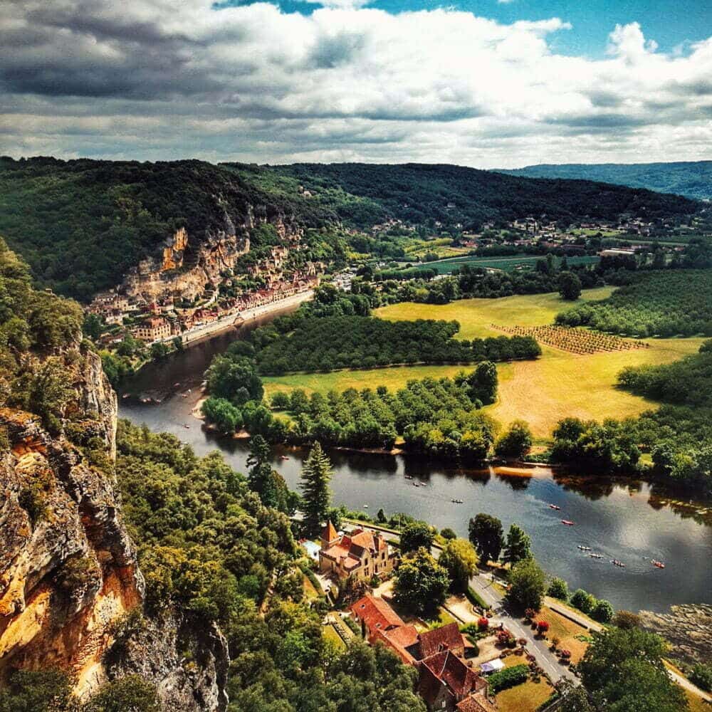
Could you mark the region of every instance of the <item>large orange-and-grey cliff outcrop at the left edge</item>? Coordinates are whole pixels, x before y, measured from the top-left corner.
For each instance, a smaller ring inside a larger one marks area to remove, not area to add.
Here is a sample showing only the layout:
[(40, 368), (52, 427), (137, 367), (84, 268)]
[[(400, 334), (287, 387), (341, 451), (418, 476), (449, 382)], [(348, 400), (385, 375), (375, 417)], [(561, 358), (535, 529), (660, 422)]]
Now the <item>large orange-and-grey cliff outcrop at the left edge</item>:
[(3, 409), (0, 425), (0, 674), (56, 666), (83, 693), (103, 676), (112, 623), (142, 600), (135, 549), (112, 478), (30, 414)]

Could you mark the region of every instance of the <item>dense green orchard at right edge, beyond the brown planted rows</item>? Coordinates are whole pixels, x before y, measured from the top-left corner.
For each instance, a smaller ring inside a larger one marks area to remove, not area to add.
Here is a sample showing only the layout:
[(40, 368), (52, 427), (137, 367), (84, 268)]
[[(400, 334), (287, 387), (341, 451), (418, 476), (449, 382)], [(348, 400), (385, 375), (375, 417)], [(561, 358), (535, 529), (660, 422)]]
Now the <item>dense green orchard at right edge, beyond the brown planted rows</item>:
[(640, 273), (607, 299), (558, 314), (556, 323), (637, 337), (712, 336), (712, 278), (694, 269)]

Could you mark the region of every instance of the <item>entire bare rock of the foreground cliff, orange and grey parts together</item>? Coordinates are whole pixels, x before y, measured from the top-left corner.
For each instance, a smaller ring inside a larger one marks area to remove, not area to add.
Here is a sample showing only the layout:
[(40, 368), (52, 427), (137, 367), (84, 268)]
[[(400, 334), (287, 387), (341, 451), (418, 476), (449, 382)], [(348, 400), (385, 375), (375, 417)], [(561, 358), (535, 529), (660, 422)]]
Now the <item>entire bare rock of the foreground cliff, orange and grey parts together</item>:
[(155, 683), (167, 712), (222, 711), (229, 655), (219, 629), (174, 611), (146, 620), (121, 645), (116, 640), (144, 595), (112, 471), (116, 394), (98, 355), (67, 363), (75, 397), (64, 430), (90, 441), (100, 467), (33, 414), (0, 408), (7, 436), (0, 449), (0, 680), (13, 669), (56, 667), (87, 696), (108, 679), (137, 673)]

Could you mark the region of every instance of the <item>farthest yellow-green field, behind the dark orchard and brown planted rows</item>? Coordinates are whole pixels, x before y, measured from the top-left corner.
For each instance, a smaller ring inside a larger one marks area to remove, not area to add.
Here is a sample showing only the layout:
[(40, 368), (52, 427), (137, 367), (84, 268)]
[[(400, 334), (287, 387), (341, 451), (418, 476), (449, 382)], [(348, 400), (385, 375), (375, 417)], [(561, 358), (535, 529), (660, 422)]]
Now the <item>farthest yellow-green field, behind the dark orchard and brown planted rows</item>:
[[(587, 289), (581, 293), (581, 301), (605, 299), (612, 287)], [(502, 336), (491, 324), (538, 326), (550, 324), (560, 311), (570, 308), (556, 293), (526, 294), (498, 299), (461, 299), (449, 304), (417, 304), (403, 302), (376, 309), (373, 313), (381, 319), (444, 319), (460, 323), (458, 336), (474, 339), (486, 336)]]

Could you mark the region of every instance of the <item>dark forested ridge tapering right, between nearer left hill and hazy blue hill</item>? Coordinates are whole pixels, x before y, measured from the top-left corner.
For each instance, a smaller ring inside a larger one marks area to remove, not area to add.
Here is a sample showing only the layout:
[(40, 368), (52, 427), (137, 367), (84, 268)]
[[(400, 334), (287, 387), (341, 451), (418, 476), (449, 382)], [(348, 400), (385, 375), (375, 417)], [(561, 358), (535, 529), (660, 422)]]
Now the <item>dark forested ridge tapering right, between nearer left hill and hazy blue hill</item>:
[[(547, 214), (571, 220), (616, 219), (621, 213), (658, 216), (697, 209), (684, 198), (592, 182), (522, 180), (488, 171), (429, 164), (295, 164), (273, 171), (298, 178), (310, 191), (342, 189), (381, 206), (388, 216), (417, 224), (440, 221), (477, 228), (487, 220)], [(345, 221), (362, 226), (372, 213), (345, 201), (333, 206)]]

